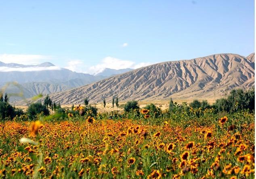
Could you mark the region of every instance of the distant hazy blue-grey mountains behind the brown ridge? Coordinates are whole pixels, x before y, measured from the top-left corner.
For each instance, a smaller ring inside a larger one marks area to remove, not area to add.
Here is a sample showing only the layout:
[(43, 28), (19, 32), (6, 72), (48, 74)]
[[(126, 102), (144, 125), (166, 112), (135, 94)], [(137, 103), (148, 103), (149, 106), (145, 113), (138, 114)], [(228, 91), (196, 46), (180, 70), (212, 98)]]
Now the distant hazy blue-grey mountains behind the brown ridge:
[[(5, 92), (13, 94), (22, 90), (23, 97), (30, 98), (40, 93), (45, 95), (63, 92), (126, 71), (130, 71), (130, 69), (105, 69), (100, 74), (90, 75), (59, 68), (50, 62), (44, 62), (40, 65), (0, 62), (0, 88), (8, 82), (15, 81), (19, 84), (19, 88), (15, 85), (9, 85)], [(11, 96), (10, 100), (21, 100), (21, 98)]]

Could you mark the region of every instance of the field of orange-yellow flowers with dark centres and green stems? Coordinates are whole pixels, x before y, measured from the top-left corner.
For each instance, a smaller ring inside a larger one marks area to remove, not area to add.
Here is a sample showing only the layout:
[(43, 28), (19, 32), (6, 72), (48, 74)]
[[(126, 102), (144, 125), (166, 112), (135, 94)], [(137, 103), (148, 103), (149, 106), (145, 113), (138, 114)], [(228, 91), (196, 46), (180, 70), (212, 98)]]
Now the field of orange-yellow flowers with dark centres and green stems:
[(6, 121), (0, 177), (254, 178), (254, 114), (204, 126), (153, 120)]

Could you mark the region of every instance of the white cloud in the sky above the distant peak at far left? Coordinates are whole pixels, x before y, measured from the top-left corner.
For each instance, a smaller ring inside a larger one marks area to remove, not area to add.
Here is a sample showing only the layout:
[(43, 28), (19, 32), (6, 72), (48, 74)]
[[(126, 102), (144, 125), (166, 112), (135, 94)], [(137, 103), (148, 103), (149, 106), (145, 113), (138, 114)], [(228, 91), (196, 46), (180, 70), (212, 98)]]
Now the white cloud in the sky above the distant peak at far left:
[(0, 54), (0, 61), (4, 63), (19, 63), (23, 65), (37, 65), (51, 59), (50, 56), (33, 54)]

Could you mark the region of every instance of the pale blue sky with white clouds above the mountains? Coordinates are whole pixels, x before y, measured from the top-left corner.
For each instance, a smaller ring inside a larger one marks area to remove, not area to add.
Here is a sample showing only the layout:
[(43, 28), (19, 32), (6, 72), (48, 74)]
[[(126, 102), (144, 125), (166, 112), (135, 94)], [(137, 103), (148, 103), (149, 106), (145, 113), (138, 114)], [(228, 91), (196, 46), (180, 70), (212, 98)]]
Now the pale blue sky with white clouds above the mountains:
[(8, 0), (0, 61), (73, 71), (254, 52), (254, 0)]

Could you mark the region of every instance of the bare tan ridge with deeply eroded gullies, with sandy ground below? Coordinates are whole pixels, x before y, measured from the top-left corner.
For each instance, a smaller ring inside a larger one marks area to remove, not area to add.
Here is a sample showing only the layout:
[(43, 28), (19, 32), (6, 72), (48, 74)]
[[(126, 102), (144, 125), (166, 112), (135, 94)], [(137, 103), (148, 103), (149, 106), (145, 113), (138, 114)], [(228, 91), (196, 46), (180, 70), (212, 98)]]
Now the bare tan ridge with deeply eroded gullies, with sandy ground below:
[(113, 96), (120, 101), (220, 98), (233, 88), (254, 87), (254, 66), (254, 53), (247, 57), (215, 54), (162, 62), (51, 94), (50, 98), (61, 104), (82, 104), (86, 97), (90, 103), (101, 102), (102, 98), (110, 102)]

